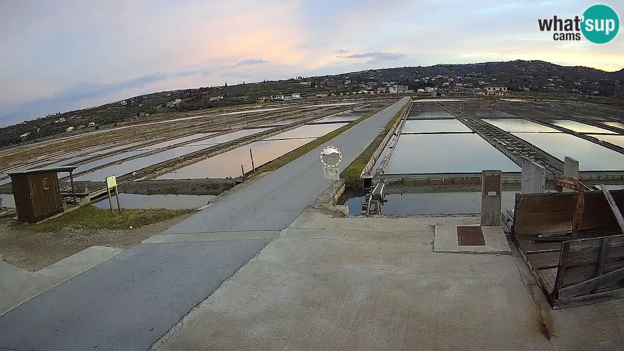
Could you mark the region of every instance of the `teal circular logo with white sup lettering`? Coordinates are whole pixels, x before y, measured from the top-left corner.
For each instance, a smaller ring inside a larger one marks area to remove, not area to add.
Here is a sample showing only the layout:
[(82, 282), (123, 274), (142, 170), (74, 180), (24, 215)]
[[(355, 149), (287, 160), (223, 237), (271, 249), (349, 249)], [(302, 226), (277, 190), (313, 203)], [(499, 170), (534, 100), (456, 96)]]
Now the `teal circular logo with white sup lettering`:
[(581, 31), (588, 41), (604, 44), (620, 29), (618, 14), (606, 5), (594, 5), (583, 12)]

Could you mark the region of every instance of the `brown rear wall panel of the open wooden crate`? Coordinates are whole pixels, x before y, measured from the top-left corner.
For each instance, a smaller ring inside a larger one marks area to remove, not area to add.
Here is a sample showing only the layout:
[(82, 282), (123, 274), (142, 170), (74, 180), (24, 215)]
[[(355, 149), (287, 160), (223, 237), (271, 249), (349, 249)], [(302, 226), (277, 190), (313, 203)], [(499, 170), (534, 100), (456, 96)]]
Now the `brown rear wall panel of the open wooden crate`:
[[(624, 190), (611, 192), (620, 211), (624, 210)], [(576, 192), (516, 194), (514, 232), (539, 234), (572, 230), (577, 204)], [(585, 192), (585, 209), (579, 229), (617, 225), (602, 191)]]

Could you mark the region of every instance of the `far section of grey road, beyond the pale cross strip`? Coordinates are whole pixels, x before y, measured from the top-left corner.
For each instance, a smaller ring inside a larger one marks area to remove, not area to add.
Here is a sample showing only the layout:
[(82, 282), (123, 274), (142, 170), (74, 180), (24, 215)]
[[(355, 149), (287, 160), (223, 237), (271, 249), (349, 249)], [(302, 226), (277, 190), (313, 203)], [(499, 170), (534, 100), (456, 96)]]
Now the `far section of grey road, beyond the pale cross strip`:
[[(408, 101), (408, 97), (402, 98), (328, 142), (343, 153), (340, 167), (353, 162)], [(323, 178), (319, 161), (324, 146), (173, 225), (163, 234), (284, 229), (330, 186), (329, 180)]]

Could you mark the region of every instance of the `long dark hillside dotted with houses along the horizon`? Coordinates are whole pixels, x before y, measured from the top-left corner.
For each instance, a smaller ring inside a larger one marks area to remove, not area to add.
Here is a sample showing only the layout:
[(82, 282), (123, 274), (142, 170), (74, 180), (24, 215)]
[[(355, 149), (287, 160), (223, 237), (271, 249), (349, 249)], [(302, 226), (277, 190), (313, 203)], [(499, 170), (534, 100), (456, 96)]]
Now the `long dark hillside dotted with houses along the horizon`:
[(411, 89), (438, 87), (443, 93), (453, 91), (453, 87), (470, 90), (500, 84), (515, 93), (624, 97), (624, 69), (605, 72), (590, 67), (522, 60), (369, 69), (332, 76), (154, 92), (89, 109), (64, 113), (51, 111), (47, 117), (0, 129), (0, 147), (66, 133), (71, 127), (75, 129), (71, 131), (73, 133), (92, 130), (95, 127), (89, 127), (90, 123), (105, 126), (133, 120), (163, 119), (180, 112), (251, 104), (263, 101), (263, 98), (295, 92), (301, 97), (348, 96), (385, 89), (386, 82)]

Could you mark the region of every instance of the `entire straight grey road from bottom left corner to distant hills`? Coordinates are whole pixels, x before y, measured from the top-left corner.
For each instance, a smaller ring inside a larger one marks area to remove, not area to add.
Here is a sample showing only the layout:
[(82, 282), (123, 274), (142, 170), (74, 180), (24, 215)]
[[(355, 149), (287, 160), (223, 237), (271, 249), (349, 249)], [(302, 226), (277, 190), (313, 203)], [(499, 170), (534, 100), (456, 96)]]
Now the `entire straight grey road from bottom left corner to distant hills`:
[[(330, 141), (343, 151), (343, 166), (408, 101), (402, 99)], [(270, 242), (254, 238), (276, 237), (329, 187), (320, 151), (251, 182), (163, 233), (181, 235), (159, 235), (156, 242), (122, 252), (2, 315), (0, 349), (148, 349)], [(212, 241), (200, 241), (207, 237)]]

